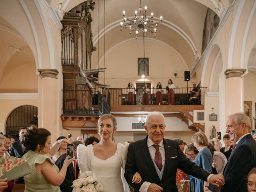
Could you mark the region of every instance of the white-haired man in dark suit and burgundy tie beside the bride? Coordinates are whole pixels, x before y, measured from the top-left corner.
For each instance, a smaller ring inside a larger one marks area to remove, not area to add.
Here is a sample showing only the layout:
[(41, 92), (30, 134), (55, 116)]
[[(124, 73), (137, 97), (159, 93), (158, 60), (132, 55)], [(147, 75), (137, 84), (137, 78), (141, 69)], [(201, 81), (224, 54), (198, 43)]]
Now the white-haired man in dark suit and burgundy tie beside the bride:
[[(125, 178), (135, 192), (178, 192), (175, 178), (177, 168), (214, 185), (223, 185), (221, 175), (213, 175), (186, 158), (177, 142), (164, 139), (164, 116), (152, 112), (146, 118), (144, 140), (130, 144), (125, 167)], [(133, 175), (139, 172), (141, 182), (132, 182)]]

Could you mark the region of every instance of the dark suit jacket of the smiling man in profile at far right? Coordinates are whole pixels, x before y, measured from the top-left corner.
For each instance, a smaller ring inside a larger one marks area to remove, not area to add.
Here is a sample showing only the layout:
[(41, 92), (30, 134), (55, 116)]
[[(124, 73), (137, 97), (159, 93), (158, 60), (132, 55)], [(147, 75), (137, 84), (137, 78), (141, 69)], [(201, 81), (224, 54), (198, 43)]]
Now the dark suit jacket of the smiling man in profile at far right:
[(223, 172), (225, 185), (220, 192), (247, 192), (246, 176), (256, 167), (256, 142), (250, 134), (234, 148)]

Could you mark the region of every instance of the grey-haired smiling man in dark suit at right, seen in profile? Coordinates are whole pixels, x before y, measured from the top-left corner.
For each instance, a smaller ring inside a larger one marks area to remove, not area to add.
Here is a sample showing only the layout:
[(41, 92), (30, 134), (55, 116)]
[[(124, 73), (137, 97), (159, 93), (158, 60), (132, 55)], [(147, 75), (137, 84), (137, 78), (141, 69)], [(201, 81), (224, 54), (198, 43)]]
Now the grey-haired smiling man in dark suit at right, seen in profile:
[(250, 118), (234, 113), (227, 118), (226, 132), (235, 143), (223, 175), (226, 184), (221, 192), (247, 192), (246, 176), (256, 167), (256, 142), (250, 134)]

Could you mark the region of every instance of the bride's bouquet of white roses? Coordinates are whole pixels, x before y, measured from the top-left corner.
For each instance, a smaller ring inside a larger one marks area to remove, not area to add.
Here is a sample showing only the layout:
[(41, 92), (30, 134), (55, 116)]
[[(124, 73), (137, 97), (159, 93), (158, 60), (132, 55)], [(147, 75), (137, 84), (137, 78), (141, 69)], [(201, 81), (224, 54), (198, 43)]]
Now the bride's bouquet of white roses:
[(80, 177), (73, 181), (72, 192), (103, 192), (100, 180), (93, 176), (91, 171), (80, 174)]

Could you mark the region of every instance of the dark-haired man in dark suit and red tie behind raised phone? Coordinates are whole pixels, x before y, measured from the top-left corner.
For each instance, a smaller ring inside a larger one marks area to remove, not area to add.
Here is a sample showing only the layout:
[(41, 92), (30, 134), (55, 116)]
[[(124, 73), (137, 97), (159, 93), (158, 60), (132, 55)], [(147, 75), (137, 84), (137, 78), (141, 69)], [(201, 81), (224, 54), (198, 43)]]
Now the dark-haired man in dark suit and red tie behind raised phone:
[[(83, 144), (80, 141), (73, 141), (71, 144), (74, 144), (74, 156), (75, 159), (77, 160), (77, 155), (76, 155), (76, 148), (78, 145)], [(61, 170), (62, 166), (63, 166), (63, 162), (66, 158), (66, 153), (62, 154), (55, 162), (56, 166)], [(74, 162), (70, 163), (68, 168), (67, 168), (67, 172), (66, 172), (66, 176), (64, 181), (62, 182), (62, 184), (60, 185), (60, 190), (62, 192), (72, 192), (73, 188), (72, 186), (72, 182), (78, 178), (78, 173), (79, 173), (79, 167), (76, 163), (76, 160), (74, 160)]]

